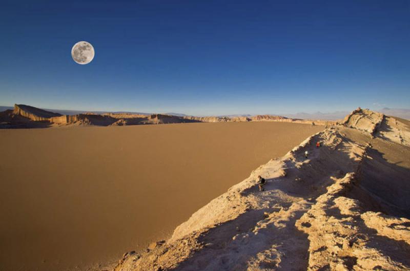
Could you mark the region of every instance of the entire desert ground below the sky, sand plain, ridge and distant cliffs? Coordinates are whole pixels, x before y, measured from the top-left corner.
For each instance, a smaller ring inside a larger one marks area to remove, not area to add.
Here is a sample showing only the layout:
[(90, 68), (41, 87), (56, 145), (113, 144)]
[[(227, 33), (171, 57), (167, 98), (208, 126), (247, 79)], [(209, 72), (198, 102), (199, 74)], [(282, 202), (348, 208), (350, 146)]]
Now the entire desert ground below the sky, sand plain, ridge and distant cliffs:
[(1, 115), (2, 270), (410, 270), (408, 120), (54, 114)]

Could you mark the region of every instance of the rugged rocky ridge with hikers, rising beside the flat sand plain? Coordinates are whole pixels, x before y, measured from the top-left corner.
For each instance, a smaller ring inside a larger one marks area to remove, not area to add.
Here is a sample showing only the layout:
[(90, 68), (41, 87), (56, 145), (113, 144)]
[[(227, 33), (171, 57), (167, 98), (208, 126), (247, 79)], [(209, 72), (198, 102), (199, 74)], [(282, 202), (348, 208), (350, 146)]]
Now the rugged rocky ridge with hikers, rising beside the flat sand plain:
[(410, 270), (410, 127), (361, 109), (343, 124), (260, 166), (115, 270)]

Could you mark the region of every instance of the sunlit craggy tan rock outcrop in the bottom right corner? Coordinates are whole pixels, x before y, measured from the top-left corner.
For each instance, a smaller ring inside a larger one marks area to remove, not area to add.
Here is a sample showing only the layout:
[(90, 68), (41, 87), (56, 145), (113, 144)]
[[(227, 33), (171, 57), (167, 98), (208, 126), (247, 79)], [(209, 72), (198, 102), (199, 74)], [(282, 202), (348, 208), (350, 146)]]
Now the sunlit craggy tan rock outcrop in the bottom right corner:
[(348, 197), (355, 174), (335, 179), (296, 221), (308, 234), (308, 270), (409, 270), (410, 219), (366, 212)]

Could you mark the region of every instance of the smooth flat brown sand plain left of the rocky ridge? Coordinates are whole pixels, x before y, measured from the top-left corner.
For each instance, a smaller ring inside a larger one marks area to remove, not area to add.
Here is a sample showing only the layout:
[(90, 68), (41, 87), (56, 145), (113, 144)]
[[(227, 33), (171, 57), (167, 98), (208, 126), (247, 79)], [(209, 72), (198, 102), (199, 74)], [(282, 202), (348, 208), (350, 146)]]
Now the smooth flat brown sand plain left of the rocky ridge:
[(321, 130), (281, 122), (1, 130), (0, 270), (102, 269), (169, 237)]

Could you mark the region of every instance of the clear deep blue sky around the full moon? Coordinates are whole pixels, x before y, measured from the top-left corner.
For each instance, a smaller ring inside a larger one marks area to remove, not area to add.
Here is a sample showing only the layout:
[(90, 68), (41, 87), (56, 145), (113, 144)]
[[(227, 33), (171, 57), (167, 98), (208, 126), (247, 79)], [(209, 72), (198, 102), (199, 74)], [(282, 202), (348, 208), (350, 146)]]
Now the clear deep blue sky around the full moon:
[[(410, 108), (410, 1), (2, 1), (0, 105), (278, 114)], [(78, 65), (72, 46), (89, 41)]]

